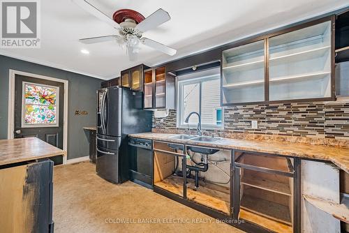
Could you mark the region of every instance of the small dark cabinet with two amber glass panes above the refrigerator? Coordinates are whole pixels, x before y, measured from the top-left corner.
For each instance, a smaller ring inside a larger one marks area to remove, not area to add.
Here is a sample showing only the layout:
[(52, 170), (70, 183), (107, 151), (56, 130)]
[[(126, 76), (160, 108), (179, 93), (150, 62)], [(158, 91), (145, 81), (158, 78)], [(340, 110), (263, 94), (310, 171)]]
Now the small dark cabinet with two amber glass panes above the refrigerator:
[(143, 91), (143, 70), (149, 68), (144, 64), (121, 71), (121, 87), (129, 87), (135, 91)]

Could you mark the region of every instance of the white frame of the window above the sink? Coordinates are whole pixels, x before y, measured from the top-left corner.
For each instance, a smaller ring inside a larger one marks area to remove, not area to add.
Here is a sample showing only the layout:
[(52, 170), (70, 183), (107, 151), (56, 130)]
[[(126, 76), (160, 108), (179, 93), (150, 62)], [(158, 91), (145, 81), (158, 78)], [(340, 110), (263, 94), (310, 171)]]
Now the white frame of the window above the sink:
[[(207, 71), (218, 71), (214, 74), (206, 74), (200, 77), (200, 73), (207, 73)], [(183, 75), (186, 76), (186, 75)], [(177, 128), (197, 128), (198, 125), (196, 124), (188, 124), (184, 123), (184, 117), (182, 116), (182, 106), (183, 106), (183, 87), (184, 85), (187, 84), (200, 84), (200, 97), (199, 97), (199, 114), (202, 115), (202, 82), (207, 82), (211, 80), (219, 80), (221, 82), (221, 72), (218, 70), (218, 68), (210, 69), (210, 70), (205, 70), (199, 73), (193, 73), (191, 76), (193, 77), (177, 77)], [(219, 84), (219, 91), (221, 92), (221, 83)], [(219, 93), (219, 98), (221, 98), (221, 93)], [(209, 130), (223, 130), (224, 129), (224, 110), (223, 106), (220, 105), (220, 107), (216, 107), (216, 110), (220, 109), (222, 112), (222, 121), (221, 125), (213, 125), (213, 124), (202, 124), (201, 128), (202, 129), (209, 129)]]

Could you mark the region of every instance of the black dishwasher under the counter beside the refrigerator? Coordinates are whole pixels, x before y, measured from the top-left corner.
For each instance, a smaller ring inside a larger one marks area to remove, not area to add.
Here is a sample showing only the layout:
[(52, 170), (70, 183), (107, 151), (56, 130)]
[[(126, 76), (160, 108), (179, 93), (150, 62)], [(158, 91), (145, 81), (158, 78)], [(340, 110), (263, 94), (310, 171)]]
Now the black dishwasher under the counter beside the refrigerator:
[(147, 188), (153, 188), (153, 153), (151, 140), (130, 137), (129, 174), (130, 180)]

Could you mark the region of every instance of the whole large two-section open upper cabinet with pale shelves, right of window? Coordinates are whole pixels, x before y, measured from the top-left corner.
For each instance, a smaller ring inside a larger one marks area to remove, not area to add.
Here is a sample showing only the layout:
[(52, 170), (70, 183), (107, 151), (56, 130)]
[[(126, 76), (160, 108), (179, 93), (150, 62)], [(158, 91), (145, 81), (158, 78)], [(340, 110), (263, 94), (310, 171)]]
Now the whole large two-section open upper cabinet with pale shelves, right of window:
[(333, 22), (327, 17), (224, 50), (222, 105), (334, 100)]

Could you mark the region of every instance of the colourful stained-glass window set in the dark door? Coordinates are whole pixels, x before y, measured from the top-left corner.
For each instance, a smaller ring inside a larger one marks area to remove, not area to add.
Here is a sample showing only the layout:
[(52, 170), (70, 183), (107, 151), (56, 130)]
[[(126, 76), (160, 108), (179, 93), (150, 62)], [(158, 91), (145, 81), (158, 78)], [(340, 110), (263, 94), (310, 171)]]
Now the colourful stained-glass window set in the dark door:
[(58, 127), (59, 87), (23, 82), (22, 127)]

